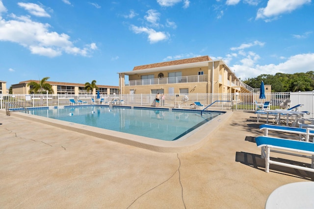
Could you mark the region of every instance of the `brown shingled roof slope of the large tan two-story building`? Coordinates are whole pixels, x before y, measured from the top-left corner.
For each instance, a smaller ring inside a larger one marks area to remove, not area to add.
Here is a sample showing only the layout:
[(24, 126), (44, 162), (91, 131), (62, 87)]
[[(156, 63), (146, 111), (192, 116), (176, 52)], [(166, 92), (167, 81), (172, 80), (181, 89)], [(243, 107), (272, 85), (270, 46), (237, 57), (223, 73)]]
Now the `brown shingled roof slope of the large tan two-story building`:
[(183, 64), (188, 64), (188, 63), (198, 63), (198, 62), (204, 62), (204, 61), (211, 61), (211, 59), (209, 56), (193, 57), (193, 58), (182, 59), (182, 60), (172, 60), (172, 61), (168, 61), (168, 62), (135, 66), (133, 68), (133, 70), (160, 68), (160, 67), (166, 67), (166, 66), (183, 65)]

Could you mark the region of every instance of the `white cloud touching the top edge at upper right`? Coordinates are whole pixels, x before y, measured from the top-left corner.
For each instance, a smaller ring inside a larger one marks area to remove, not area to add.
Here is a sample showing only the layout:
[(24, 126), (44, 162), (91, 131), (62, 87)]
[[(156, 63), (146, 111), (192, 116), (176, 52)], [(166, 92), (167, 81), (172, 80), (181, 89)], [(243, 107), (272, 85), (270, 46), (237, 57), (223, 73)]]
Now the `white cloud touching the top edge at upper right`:
[(256, 19), (265, 19), (269, 22), (270, 18), (296, 10), (307, 3), (311, 3), (311, 0), (268, 0), (267, 6), (258, 10)]

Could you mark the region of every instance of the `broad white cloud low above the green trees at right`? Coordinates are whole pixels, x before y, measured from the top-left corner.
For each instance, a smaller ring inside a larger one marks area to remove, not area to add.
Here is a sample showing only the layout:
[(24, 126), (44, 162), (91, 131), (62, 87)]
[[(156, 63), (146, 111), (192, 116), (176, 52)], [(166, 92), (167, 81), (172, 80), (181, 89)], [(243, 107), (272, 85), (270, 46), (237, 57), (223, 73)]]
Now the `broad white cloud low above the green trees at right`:
[(236, 76), (242, 80), (254, 78), (261, 74), (275, 74), (277, 72), (293, 74), (297, 72), (309, 71), (309, 66), (314, 66), (314, 53), (297, 54), (289, 57), (286, 62), (268, 65), (250, 65), (250, 62), (242, 62), (243, 65), (230, 67), (235, 70)]

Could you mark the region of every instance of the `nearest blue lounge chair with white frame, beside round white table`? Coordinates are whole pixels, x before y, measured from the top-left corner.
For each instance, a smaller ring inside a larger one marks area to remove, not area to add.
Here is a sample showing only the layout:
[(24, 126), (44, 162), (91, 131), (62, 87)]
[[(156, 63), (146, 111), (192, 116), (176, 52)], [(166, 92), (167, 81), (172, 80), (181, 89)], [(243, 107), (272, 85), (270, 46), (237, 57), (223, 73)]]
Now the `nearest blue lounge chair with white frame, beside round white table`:
[[(290, 168), (314, 172), (314, 143), (272, 137), (257, 137), (255, 138), (255, 141), (257, 146), (261, 148), (262, 152), (261, 157), (265, 159), (265, 171), (267, 173), (269, 172), (269, 164), (276, 164)], [(274, 148), (276, 150), (271, 150), (271, 148)], [(311, 167), (282, 163), (276, 161), (275, 158), (270, 160), (271, 151), (281, 154), (310, 158), (312, 160)], [(296, 154), (295, 152), (301, 154)]]

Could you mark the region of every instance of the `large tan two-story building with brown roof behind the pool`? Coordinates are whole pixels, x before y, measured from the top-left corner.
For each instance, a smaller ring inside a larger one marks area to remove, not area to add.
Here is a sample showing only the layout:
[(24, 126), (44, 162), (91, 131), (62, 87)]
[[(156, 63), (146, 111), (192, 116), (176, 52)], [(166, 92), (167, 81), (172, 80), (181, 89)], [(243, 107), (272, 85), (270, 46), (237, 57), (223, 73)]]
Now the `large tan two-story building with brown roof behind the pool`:
[(119, 87), (121, 94), (249, 92), (223, 60), (209, 56), (136, 66), (119, 72)]

